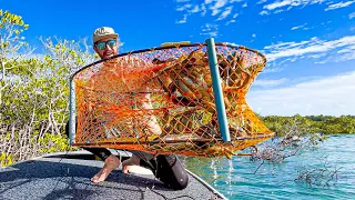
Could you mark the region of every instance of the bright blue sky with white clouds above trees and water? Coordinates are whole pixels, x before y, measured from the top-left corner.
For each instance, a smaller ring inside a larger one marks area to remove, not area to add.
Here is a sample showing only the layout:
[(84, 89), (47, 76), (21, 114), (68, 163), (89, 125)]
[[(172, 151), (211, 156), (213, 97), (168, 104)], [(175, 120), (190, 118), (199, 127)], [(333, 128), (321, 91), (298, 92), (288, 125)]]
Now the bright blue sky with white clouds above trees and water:
[[(166, 41), (233, 42), (267, 57), (247, 101), (266, 114), (355, 114), (355, 0), (3, 1), (38, 38), (79, 40), (113, 27), (120, 52)], [(40, 51), (40, 48), (39, 48)]]

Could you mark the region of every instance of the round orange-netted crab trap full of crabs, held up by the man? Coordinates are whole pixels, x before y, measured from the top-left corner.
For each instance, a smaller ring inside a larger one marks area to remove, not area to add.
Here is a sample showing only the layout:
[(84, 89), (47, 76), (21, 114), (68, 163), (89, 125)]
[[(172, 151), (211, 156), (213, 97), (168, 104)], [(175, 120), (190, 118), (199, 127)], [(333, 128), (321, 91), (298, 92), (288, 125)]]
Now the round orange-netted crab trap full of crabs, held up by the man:
[(231, 158), (274, 136), (245, 100), (265, 64), (213, 39), (94, 62), (70, 78), (71, 144)]

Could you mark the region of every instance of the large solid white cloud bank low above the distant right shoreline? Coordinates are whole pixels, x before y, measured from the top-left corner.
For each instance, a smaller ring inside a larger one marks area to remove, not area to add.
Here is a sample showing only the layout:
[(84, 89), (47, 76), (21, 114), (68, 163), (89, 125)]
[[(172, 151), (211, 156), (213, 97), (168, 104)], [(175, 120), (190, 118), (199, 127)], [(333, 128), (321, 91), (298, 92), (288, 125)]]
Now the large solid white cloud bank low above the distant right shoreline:
[(262, 116), (353, 114), (355, 71), (283, 89), (252, 90), (246, 99)]

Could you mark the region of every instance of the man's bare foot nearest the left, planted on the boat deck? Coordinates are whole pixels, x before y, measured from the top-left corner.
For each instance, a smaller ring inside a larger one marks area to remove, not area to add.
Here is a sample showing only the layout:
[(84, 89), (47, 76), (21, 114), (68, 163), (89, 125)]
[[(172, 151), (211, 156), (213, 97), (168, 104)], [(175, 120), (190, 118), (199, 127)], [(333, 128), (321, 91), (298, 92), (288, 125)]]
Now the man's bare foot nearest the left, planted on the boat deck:
[(97, 173), (93, 178), (91, 178), (92, 182), (102, 182), (108, 176), (121, 164), (120, 159), (118, 159), (114, 154), (111, 154), (109, 158), (104, 160), (103, 168)]

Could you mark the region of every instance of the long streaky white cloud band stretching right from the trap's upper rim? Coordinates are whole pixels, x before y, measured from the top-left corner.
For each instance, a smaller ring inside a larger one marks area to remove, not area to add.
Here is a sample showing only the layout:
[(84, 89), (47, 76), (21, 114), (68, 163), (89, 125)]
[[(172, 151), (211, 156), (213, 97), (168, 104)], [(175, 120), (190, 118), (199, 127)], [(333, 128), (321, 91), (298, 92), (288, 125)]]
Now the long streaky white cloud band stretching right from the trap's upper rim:
[[(282, 42), (277, 44), (267, 46), (264, 50), (266, 52), (266, 58), (268, 61), (274, 61), (283, 58), (295, 58), (301, 56), (307, 56), (313, 53), (327, 53), (335, 50), (348, 49), (355, 46), (355, 36), (343, 37), (337, 40), (324, 41), (317, 38), (312, 38), (307, 41), (301, 42)], [(349, 49), (351, 52), (355, 50)], [(334, 56), (334, 52), (333, 52)], [(345, 59), (345, 58), (344, 58)], [(347, 60), (352, 60), (349, 57)]]

